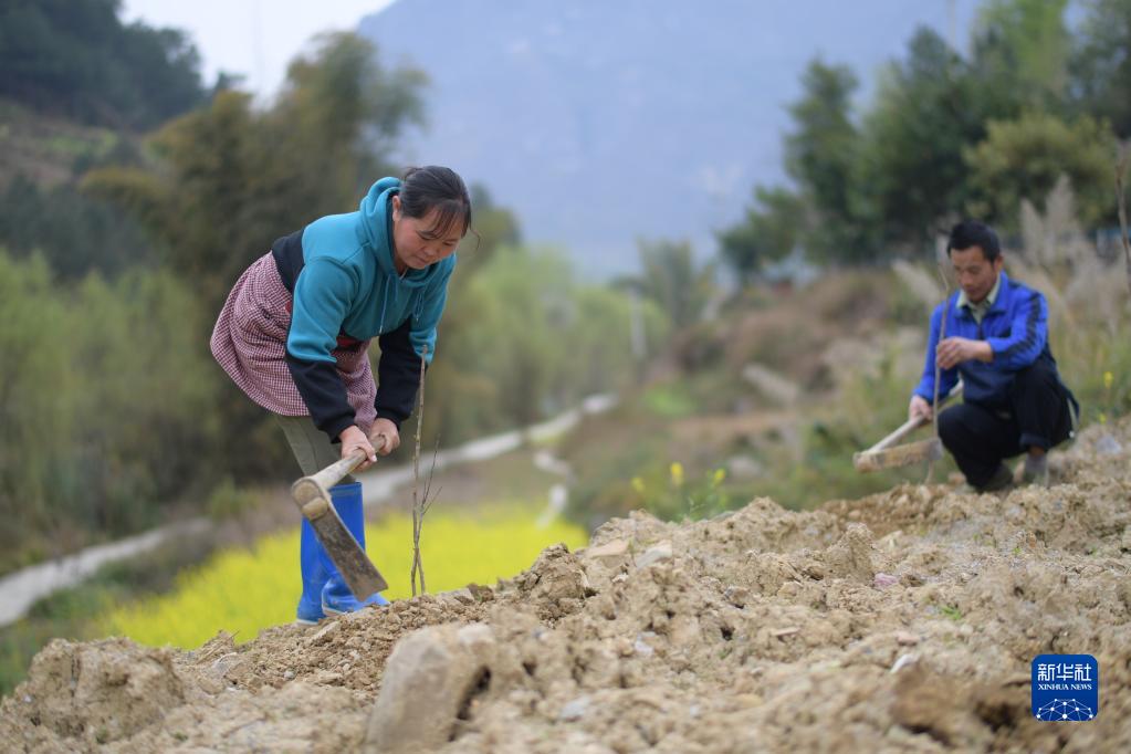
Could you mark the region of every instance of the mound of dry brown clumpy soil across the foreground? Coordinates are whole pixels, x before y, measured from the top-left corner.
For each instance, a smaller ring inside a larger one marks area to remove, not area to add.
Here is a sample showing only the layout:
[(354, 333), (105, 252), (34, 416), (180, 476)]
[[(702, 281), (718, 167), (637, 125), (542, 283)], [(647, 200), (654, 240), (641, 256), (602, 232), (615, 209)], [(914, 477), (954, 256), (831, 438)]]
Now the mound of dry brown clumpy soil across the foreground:
[[(57, 640), (0, 707), (35, 752), (1131, 751), (1131, 421), (1050, 488), (632, 514), (513, 580), (192, 652)], [(1099, 661), (1089, 722), (1029, 711)]]

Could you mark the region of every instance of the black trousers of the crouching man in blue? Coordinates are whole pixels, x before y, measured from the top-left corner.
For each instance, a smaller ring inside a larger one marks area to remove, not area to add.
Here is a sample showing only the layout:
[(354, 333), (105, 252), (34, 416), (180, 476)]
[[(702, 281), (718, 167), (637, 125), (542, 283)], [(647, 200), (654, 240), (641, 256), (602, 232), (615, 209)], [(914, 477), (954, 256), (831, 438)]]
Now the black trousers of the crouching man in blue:
[(1013, 379), (1009, 402), (951, 406), (939, 414), (939, 439), (974, 487), (984, 487), (1002, 459), (1037, 447), (1048, 450), (1072, 434), (1070, 393), (1044, 361)]

